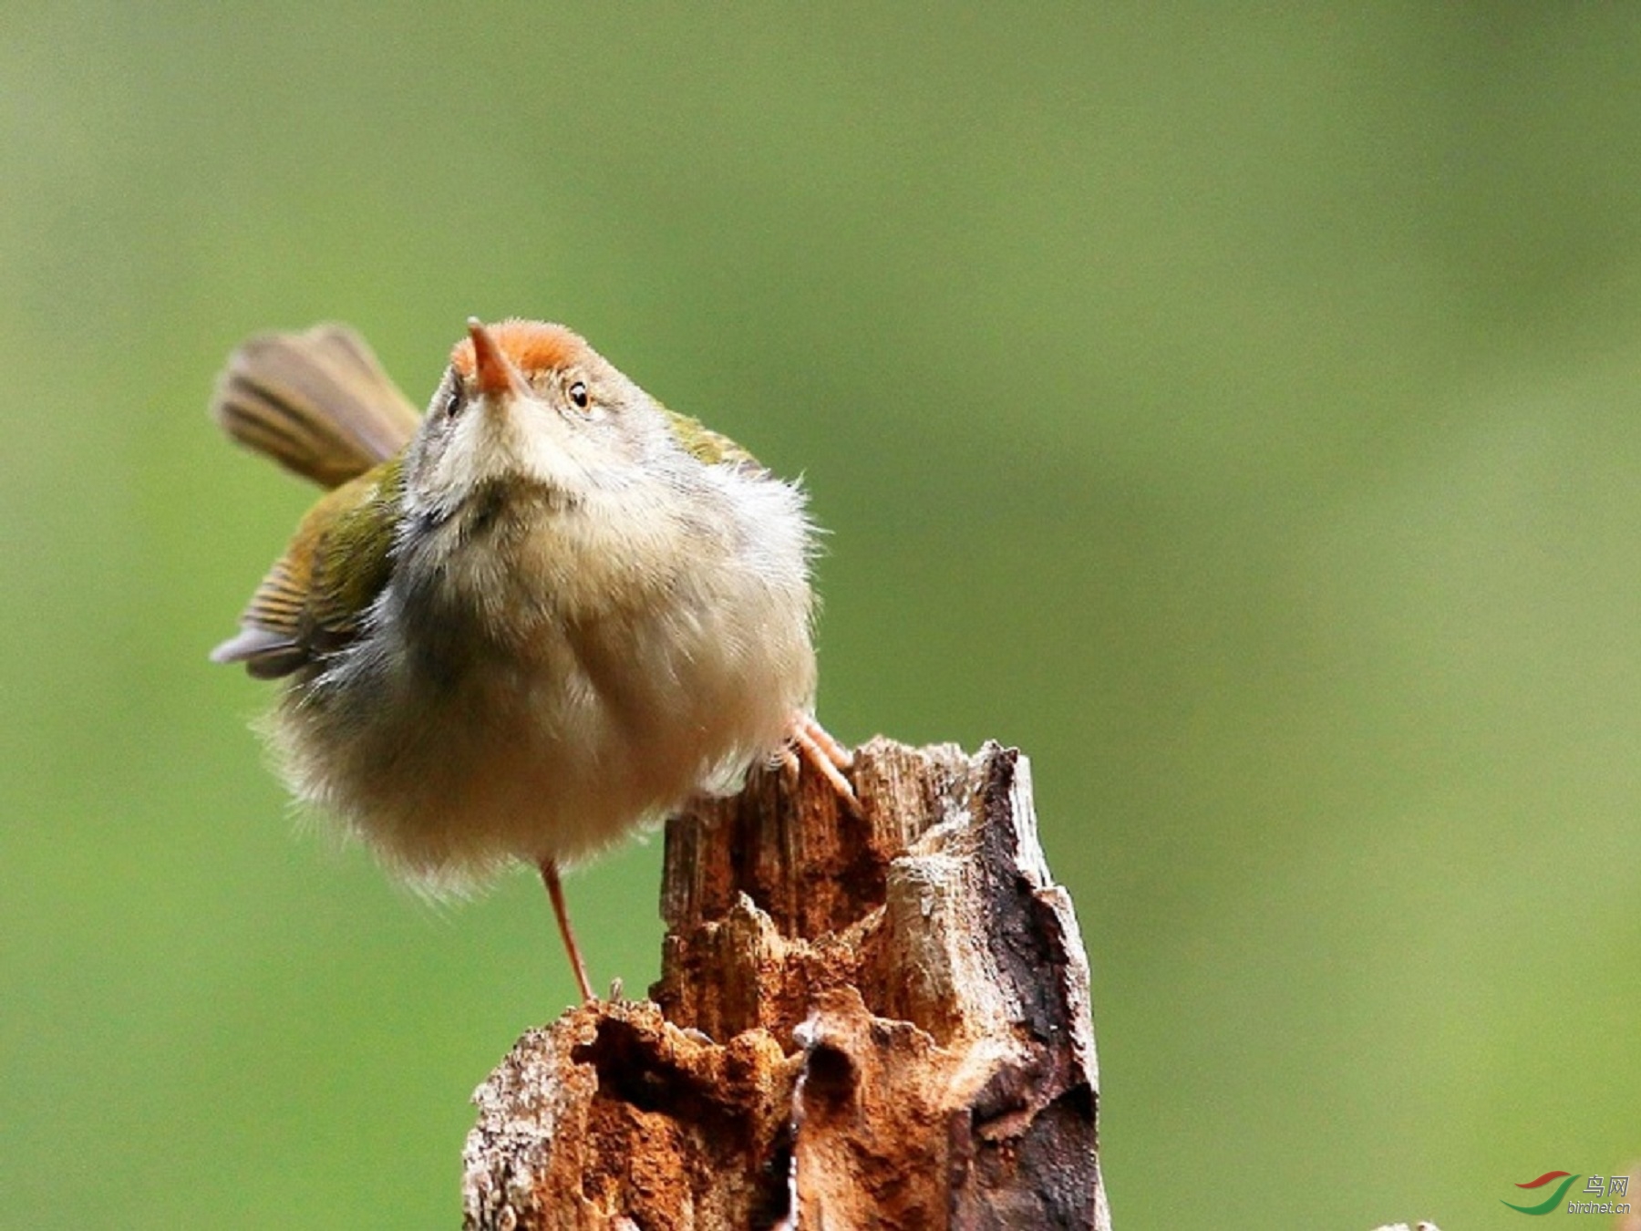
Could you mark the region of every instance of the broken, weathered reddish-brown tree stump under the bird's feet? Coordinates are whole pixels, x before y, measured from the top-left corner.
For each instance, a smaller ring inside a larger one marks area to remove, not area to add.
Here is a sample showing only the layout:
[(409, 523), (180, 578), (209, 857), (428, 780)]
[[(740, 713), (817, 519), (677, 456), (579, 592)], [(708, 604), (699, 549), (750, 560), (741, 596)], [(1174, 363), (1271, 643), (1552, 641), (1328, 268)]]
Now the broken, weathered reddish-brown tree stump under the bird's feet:
[(1024, 757), (873, 740), (666, 826), (651, 1001), (479, 1087), (468, 1228), (1109, 1228), (1088, 962)]

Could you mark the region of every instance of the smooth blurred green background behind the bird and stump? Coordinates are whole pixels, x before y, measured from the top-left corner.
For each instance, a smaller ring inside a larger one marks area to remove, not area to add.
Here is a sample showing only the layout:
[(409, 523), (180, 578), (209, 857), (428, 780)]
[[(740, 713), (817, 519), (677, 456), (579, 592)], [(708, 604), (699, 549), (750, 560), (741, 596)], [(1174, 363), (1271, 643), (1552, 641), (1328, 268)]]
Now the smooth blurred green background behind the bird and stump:
[[(299, 834), (205, 402), (565, 320), (804, 473), (822, 714), (1034, 762), (1122, 1231), (1641, 1152), (1641, 10), (18, 5), (0, 1224), (451, 1226), (540, 886)], [(660, 842), (573, 878), (658, 968)]]

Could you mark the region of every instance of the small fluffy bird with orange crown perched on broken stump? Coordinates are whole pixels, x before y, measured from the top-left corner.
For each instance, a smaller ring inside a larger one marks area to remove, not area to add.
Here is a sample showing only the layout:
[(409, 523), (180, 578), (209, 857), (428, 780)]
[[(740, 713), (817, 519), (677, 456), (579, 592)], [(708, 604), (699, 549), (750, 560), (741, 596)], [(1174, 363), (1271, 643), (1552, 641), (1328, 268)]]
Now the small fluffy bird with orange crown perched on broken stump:
[(433, 890), (560, 872), (761, 762), (845, 806), (802, 492), (563, 325), (473, 318), (425, 415), (351, 330), (269, 333), (213, 414), (330, 487), (212, 652), (282, 678), (292, 793)]

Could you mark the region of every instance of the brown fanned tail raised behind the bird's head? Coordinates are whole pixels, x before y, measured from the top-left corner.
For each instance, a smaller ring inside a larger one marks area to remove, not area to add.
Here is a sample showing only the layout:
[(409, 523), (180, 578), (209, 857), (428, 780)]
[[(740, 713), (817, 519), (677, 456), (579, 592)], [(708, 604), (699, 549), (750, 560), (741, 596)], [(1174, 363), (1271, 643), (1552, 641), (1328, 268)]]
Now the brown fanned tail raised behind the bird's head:
[(212, 414), (236, 443), (323, 487), (399, 453), (420, 422), (345, 325), (249, 338), (228, 358)]

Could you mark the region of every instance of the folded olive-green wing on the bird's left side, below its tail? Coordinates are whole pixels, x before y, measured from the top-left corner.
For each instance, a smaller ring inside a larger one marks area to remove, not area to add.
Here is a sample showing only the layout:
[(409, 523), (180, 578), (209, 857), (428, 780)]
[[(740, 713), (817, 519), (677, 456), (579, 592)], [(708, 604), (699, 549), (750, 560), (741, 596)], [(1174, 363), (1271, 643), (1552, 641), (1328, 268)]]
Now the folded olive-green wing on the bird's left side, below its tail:
[(392, 576), (402, 496), (394, 458), (320, 499), (251, 596), (240, 634), (212, 650), (212, 661), (276, 680), (348, 645)]

